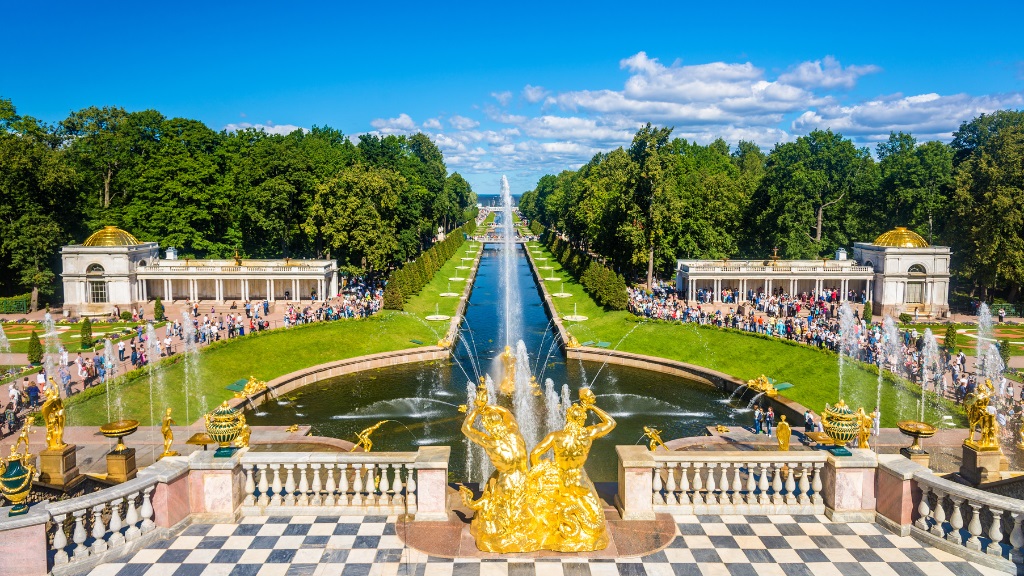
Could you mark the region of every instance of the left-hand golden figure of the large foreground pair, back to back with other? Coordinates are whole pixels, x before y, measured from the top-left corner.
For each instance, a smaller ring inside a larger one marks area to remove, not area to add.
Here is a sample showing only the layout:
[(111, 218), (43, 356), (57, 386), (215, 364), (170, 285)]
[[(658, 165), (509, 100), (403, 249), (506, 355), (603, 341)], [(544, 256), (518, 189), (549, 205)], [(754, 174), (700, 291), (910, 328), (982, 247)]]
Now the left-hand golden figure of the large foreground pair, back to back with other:
[[(479, 426), (477, 427), (477, 421)], [(467, 507), (475, 510), (469, 531), (476, 546), (487, 552), (525, 552), (540, 548), (534, 495), (526, 485), (526, 443), (507, 408), (487, 404), (487, 388), (476, 389), (476, 401), (466, 413), (462, 433), (487, 453), (495, 474), (479, 499), (465, 486), (459, 490)]]

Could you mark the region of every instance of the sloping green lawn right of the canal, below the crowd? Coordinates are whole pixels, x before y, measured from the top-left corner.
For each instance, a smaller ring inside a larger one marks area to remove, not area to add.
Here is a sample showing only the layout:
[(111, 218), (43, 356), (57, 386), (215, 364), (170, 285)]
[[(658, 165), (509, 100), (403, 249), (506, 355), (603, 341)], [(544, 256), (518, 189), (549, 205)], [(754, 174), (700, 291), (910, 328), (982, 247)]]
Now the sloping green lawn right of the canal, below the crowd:
[[(695, 364), (744, 380), (765, 374), (777, 382), (793, 383), (794, 387), (782, 393), (783, 396), (818, 413), (825, 403), (835, 404), (839, 400), (839, 357), (833, 353), (734, 330), (643, 321), (627, 312), (605, 312), (542, 245), (531, 243), (530, 249), (540, 249), (541, 256), (549, 258), (538, 265), (550, 264), (554, 266), (551, 271), (554, 276), (562, 278), (562, 282), (546, 282), (549, 291), (561, 291), (564, 285), (564, 291), (572, 294), (570, 298), (552, 298), (559, 315), (572, 314), (575, 304), (575, 313), (589, 318), (580, 323), (565, 323), (565, 328), (581, 342), (607, 341), (611, 342), (609, 347), (617, 345), (624, 352)], [(551, 276), (541, 272), (542, 276)], [(876, 373), (856, 364), (847, 365), (843, 383), (847, 404), (854, 409), (863, 406), (869, 412), (876, 405), (877, 389)], [(911, 417), (916, 413), (920, 398), (918, 386), (884, 380), (882, 424), (895, 426), (897, 419)], [(934, 401), (935, 396), (929, 395), (927, 403)], [(938, 410), (930, 406), (926, 419), (937, 421), (941, 414), (951, 414), (957, 422), (963, 422), (961, 411), (945, 401), (941, 401)]]

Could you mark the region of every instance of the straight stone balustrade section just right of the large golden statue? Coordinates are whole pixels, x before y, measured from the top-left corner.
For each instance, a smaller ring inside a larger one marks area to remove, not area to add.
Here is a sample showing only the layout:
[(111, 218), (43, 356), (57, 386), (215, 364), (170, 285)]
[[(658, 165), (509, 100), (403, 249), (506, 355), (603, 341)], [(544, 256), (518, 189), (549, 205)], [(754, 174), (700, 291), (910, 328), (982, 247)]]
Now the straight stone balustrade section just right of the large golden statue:
[[(624, 518), (652, 518), (656, 512), (824, 512), (823, 452), (651, 452), (641, 446), (617, 450)], [(644, 493), (649, 505), (643, 502)], [(637, 507), (630, 510), (630, 503)]]

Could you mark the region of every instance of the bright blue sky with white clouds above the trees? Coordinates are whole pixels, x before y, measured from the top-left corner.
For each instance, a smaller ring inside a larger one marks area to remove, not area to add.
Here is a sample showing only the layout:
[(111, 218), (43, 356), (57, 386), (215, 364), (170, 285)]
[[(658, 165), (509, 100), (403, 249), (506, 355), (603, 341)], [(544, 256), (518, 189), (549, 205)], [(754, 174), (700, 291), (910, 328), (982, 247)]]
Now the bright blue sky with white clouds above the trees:
[(1020, 2), (16, 1), (0, 97), (211, 128), (430, 134), (479, 193), (628, 146), (647, 121), (770, 149), (831, 127), (948, 139), (1024, 108)]

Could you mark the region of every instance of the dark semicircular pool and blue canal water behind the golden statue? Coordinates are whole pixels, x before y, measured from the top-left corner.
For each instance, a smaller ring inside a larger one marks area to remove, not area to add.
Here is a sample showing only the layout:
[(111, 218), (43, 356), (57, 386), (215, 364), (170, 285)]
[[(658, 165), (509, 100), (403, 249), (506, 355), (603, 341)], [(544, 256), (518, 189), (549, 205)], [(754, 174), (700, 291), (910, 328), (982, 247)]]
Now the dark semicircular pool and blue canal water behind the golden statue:
[[(485, 480), (482, 477), (486, 467), (479, 461), (483, 456), (474, 453), (463, 437), (463, 414), (457, 407), (467, 402), (467, 383), (476, 380), (478, 371), (501, 380), (499, 356), (505, 347), (501, 250), (497, 244), (484, 245), (466, 307), (463, 340), (451, 360), (370, 370), (309, 384), (278, 403), (261, 406), (256, 414), (247, 414), (249, 422), (309, 424), (312, 435), (354, 442), (355, 434), (362, 428), (380, 420), (392, 420), (374, 433), (374, 451), (447, 445), (452, 447), (453, 480)], [(556, 390), (568, 384), (575, 401), (578, 389), (585, 382), (593, 382), (598, 407), (617, 422), (610, 435), (595, 442), (587, 461), (587, 471), (595, 482), (615, 481), (615, 445), (645, 443), (645, 425), (663, 430), (662, 437), (670, 440), (699, 435), (711, 424), (736, 423), (737, 412), (722, 402), (725, 396), (720, 390), (708, 384), (636, 368), (602, 368), (598, 363), (566, 361), (557, 342), (553, 342), (557, 336), (522, 248), (516, 249), (515, 272), (521, 338), (541, 390), (545, 380), (551, 378)], [(543, 402), (543, 397), (538, 399), (539, 404)]]

